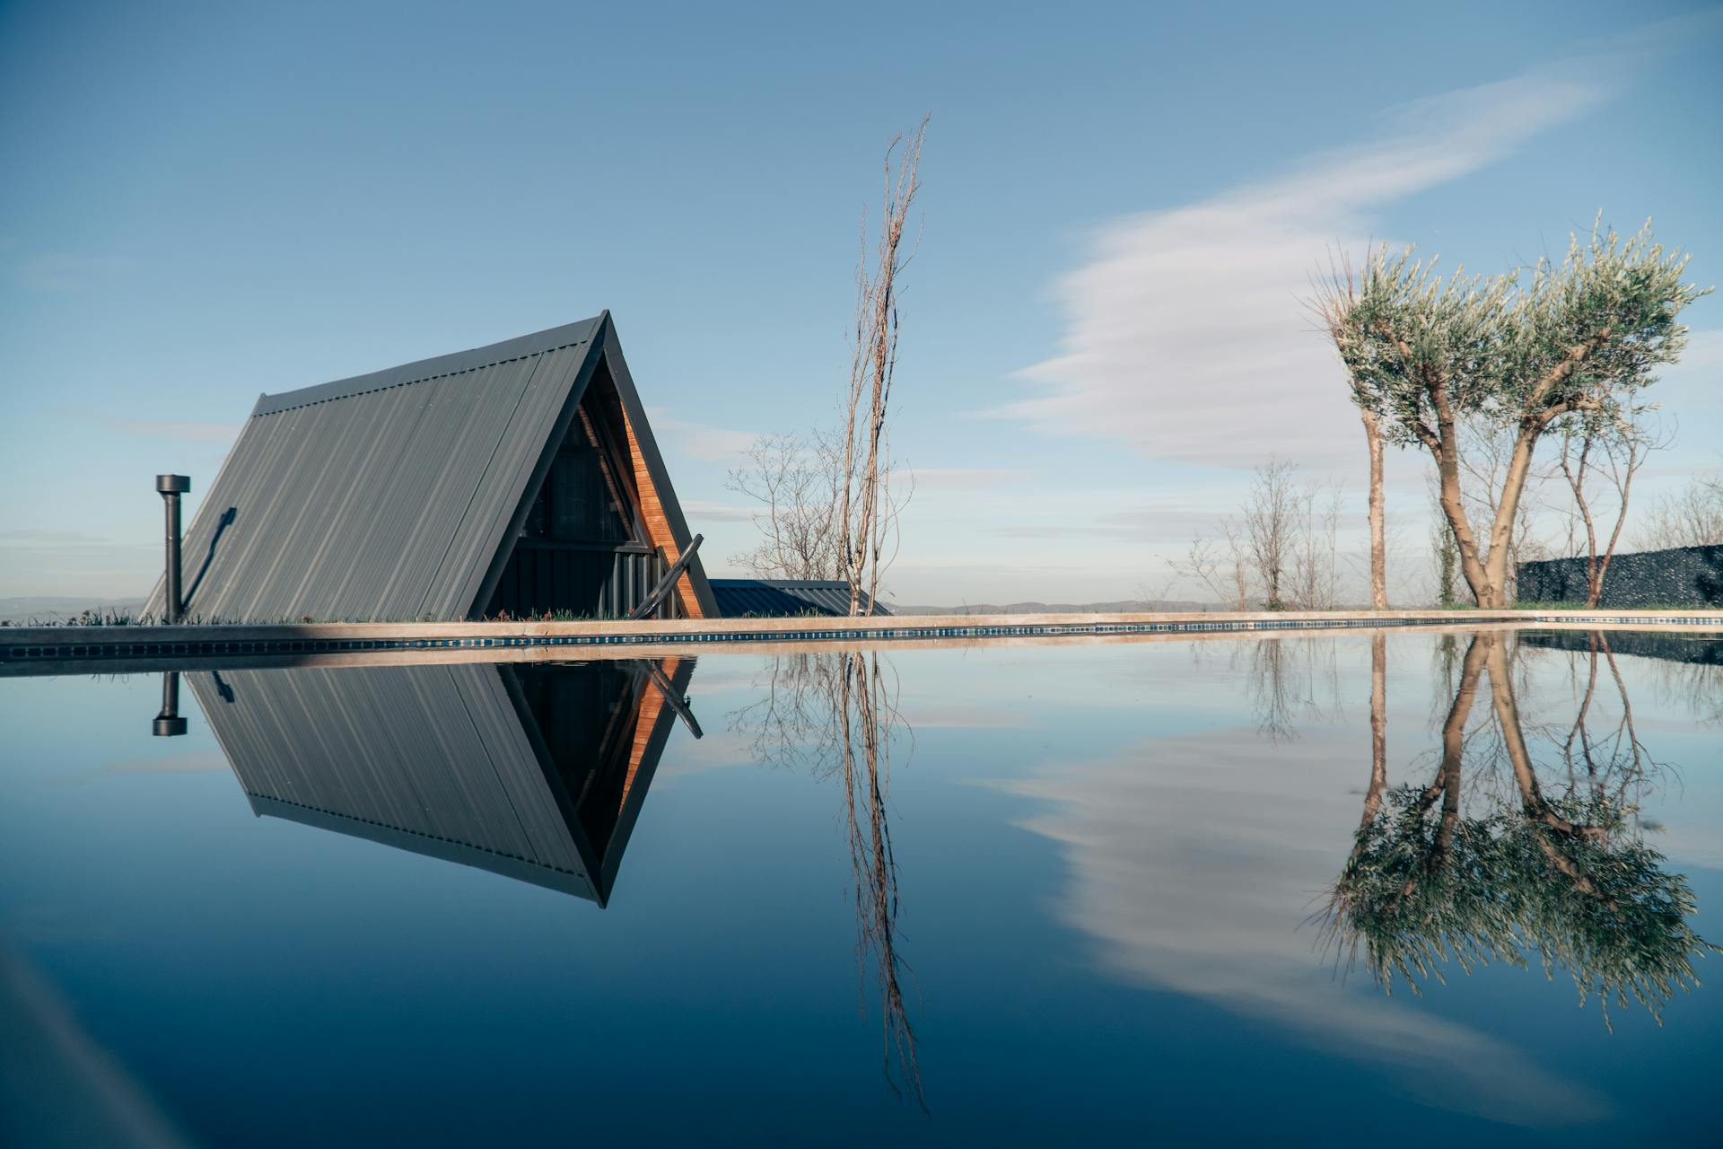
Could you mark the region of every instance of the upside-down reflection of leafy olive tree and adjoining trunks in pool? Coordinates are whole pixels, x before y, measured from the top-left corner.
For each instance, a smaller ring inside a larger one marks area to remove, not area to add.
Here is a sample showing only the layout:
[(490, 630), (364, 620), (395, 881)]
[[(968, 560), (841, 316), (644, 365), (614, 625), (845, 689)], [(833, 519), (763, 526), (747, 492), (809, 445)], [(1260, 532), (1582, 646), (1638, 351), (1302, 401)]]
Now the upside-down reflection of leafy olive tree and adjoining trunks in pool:
[[(1625, 1006), (1632, 997), (1659, 1016), (1675, 991), (1697, 985), (1692, 961), (1716, 946), (1689, 927), (1687, 879), (1663, 870), (1635, 822), (1651, 761), (1627, 689), (1599, 637), (1590, 656), (1614, 672), (1621, 715), (1611, 732), (1590, 734), (1597, 680), (1589, 675), (1573, 724), (1533, 727), (1563, 761), (1549, 772), (1566, 779), (1552, 792), (1520, 715), (1509, 641), (1478, 634), (1466, 648), (1427, 786), (1389, 789), (1384, 739), (1373, 737), (1365, 813), (1323, 915), (1327, 937), (1347, 965), (1363, 951), (1384, 989), (1397, 977), (1416, 992), (1423, 980), (1440, 982), (1449, 961), (1466, 972), (1490, 961), (1527, 966), (1535, 951), (1546, 977), (1561, 966), (1582, 1001), (1599, 997), (1606, 1023), (1611, 999)], [(1373, 727), (1382, 658), (1378, 644)], [(1485, 679), (1490, 708), (1473, 724)], [(1511, 786), (1470, 787), (1482, 801), (1465, 803), (1468, 770), (1473, 779), (1506, 773)]]

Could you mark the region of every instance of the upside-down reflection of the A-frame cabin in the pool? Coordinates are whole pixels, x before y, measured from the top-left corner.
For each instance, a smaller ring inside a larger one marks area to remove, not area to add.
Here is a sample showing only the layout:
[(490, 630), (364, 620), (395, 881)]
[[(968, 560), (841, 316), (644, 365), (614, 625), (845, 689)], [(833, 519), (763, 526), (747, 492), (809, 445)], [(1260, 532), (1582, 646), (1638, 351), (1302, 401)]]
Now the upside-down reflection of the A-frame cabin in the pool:
[[(691, 660), (190, 674), (258, 815), (605, 904)], [(698, 727), (696, 727), (698, 729)]]

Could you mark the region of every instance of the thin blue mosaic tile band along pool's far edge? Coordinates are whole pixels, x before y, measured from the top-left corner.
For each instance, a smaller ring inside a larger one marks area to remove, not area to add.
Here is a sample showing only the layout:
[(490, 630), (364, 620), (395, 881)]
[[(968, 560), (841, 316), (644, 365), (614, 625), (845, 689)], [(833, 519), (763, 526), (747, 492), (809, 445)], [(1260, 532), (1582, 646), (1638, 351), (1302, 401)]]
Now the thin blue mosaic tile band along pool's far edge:
[[(31, 658), (212, 658), (221, 655), (312, 655), (341, 651), (414, 651), (414, 649), (507, 649), (543, 646), (682, 646), (687, 643), (882, 643), (893, 639), (980, 639), (980, 637), (1037, 637), (1082, 634), (1215, 634), (1215, 632), (1284, 632), (1284, 630), (1347, 630), (1413, 625), (1466, 625), (1465, 615), (1440, 613), (1420, 618), (1234, 618), (1216, 622), (1067, 622), (1018, 627), (862, 627), (843, 630), (694, 630), (686, 634), (544, 634), (507, 637), (451, 637), (451, 639), (253, 639), (253, 641), (186, 641), (186, 643), (41, 643), (7, 646), (9, 660)], [(1478, 620), (1484, 622), (1484, 620)], [(1489, 618), (1501, 622), (1501, 618)], [(1597, 625), (1656, 625), (1718, 627), (1716, 615), (1516, 615), (1513, 622), (1527, 624), (1597, 624)], [(0, 639), (3, 641), (3, 639)]]

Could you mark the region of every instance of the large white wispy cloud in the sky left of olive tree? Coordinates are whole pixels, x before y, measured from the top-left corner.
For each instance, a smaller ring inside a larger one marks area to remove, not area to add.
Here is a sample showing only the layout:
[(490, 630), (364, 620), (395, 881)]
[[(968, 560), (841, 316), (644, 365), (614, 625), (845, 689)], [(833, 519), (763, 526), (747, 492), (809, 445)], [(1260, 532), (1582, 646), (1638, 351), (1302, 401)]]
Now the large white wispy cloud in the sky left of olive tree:
[(1373, 208), (1478, 171), (1606, 96), (1554, 74), (1454, 91), (1394, 110), (1373, 143), (1103, 227), (1056, 288), (1063, 353), (1022, 372), (1042, 393), (998, 413), (1156, 458), (1349, 458), (1356, 420), (1299, 303), (1315, 264), (1368, 243)]

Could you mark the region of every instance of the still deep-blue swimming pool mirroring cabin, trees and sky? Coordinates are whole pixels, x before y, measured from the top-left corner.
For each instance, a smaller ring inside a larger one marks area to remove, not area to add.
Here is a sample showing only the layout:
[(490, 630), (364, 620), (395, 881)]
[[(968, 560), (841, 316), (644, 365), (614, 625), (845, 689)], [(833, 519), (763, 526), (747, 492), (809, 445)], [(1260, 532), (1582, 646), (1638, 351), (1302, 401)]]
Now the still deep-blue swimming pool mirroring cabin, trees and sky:
[(7, 680), (3, 1120), (1704, 1144), (1720, 663), (1490, 629)]

